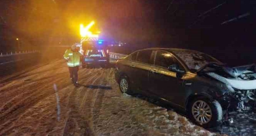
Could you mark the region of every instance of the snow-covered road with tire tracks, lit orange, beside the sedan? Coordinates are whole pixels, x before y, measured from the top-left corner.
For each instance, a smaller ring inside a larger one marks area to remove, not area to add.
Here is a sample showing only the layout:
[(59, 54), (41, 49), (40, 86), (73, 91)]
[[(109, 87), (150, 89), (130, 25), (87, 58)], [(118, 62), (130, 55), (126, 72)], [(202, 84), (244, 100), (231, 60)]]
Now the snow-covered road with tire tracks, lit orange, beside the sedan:
[(1, 136), (220, 135), (174, 111), (121, 94), (113, 68), (80, 69), (81, 86), (74, 87), (65, 62), (58, 60), (2, 78), (0, 83)]

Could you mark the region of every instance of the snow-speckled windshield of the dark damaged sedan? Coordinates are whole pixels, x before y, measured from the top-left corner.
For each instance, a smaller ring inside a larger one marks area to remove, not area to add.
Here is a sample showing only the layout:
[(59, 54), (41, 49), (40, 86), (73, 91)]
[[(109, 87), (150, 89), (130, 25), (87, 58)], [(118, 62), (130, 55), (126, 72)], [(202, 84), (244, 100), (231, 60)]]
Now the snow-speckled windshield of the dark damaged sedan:
[(182, 59), (191, 71), (196, 71), (209, 63), (222, 64), (220, 61), (205, 53), (194, 50), (174, 51), (175, 54)]

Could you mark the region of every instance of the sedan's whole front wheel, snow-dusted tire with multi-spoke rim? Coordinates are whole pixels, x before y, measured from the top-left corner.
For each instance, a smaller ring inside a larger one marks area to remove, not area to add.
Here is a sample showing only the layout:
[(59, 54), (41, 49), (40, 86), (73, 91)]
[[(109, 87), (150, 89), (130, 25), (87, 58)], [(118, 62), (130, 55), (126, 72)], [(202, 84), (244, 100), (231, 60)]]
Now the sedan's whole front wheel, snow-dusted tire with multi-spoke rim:
[(188, 113), (193, 122), (204, 128), (216, 127), (222, 119), (220, 103), (202, 97), (195, 98), (189, 103)]

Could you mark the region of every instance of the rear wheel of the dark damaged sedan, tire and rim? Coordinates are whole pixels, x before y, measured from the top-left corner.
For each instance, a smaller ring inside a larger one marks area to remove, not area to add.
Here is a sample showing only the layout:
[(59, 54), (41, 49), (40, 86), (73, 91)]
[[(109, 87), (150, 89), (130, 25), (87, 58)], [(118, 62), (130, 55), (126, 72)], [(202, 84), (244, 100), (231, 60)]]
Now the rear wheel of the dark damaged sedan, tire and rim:
[(132, 95), (130, 81), (128, 80), (127, 76), (121, 76), (119, 80), (119, 88), (122, 93)]

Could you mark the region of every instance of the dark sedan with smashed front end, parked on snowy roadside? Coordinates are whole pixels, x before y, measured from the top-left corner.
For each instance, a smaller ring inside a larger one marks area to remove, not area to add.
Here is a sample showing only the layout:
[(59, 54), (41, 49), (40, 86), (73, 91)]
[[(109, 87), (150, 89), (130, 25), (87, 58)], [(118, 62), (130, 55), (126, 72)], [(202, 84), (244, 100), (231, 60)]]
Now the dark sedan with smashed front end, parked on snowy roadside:
[(255, 69), (227, 67), (195, 50), (149, 48), (119, 59), (115, 78), (121, 92), (160, 98), (198, 125), (214, 127), (231, 111), (255, 108)]

